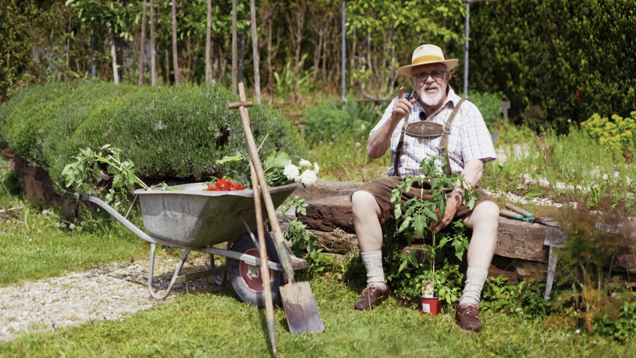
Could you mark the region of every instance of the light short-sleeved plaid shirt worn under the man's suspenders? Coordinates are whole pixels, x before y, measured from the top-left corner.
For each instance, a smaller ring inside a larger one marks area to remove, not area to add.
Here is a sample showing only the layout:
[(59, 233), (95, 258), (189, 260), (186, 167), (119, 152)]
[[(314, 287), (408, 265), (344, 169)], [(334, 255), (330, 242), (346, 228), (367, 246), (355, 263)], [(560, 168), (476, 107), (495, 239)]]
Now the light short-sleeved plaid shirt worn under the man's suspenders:
[[(408, 95), (405, 94), (404, 97), (408, 98)], [(408, 118), (406, 118), (408, 123), (420, 121), (420, 112), (424, 112), (424, 107), (420, 104), (417, 92), (413, 93), (413, 98), (415, 98), (416, 101), (413, 110), (408, 115)], [(446, 103), (425, 120), (444, 125), (448, 117), (450, 117), (450, 113), (455, 108), (455, 104), (459, 102), (460, 99), (461, 98), (455, 94), (455, 91), (453, 91), (453, 88), (448, 86)], [(378, 124), (371, 130), (371, 133), (378, 130), (378, 128), (382, 127), (382, 125), (391, 118), (393, 105), (396, 100), (397, 97), (391, 101), (389, 107), (384, 111), (382, 119), (380, 119)], [(387, 172), (389, 176), (393, 176), (395, 172), (396, 148), (402, 135), (403, 125), (404, 120), (401, 120), (391, 135), (391, 169)], [(435, 138), (418, 138), (404, 135), (402, 154), (399, 158), (399, 174), (401, 176), (408, 174), (411, 176), (419, 176), (420, 162), (422, 162), (424, 158), (441, 156), (443, 154), (443, 151), (439, 149), (440, 141), (441, 136)], [(448, 156), (453, 172), (462, 172), (462, 170), (464, 170), (464, 163), (470, 160), (481, 159), (484, 163), (487, 163), (497, 159), (495, 148), (492, 145), (492, 139), (490, 139), (490, 132), (488, 132), (488, 128), (483, 121), (479, 109), (467, 100), (464, 101), (464, 104), (460, 107), (450, 127), (450, 134), (448, 135)], [(436, 165), (441, 169), (441, 160), (436, 160)]]

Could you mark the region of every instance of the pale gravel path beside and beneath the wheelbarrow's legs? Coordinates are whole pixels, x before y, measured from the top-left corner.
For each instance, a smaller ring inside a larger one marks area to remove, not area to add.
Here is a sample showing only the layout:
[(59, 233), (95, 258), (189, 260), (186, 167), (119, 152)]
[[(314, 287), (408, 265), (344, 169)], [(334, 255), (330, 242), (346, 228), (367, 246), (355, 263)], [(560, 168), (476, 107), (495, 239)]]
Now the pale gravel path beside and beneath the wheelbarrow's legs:
[[(182, 273), (202, 270), (207, 256), (188, 258)], [(165, 289), (179, 259), (156, 258), (155, 291)], [(159, 275), (159, 277), (158, 277)], [(146, 287), (148, 263), (111, 263), (86, 272), (71, 272), (35, 282), (0, 287), (0, 341), (22, 333), (56, 331), (88, 320), (123, 319), (163, 301), (151, 298)], [(211, 279), (175, 285), (166, 299), (180, 291), (204, 290)]]

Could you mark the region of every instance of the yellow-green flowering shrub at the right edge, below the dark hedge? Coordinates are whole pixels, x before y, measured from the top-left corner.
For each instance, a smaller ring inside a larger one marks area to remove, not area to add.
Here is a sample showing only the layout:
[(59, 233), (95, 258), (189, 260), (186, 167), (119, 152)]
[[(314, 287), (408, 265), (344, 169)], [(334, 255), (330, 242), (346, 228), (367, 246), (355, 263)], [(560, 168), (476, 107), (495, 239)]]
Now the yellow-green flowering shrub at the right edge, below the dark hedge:
[(611, 120), (594, 113), (588, 120), (581, 122), (581, 129), (601, 146), (609, 146), (612, 151), (630, 156), (636, 154), (636, 111), (626, 118), (612, 114)]

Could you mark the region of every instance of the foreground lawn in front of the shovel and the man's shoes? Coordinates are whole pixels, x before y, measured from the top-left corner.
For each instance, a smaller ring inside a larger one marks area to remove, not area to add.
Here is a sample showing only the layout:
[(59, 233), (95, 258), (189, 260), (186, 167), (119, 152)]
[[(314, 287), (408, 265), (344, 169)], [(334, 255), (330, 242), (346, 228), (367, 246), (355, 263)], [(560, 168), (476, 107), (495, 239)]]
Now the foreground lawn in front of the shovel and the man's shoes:
[[(359, 287), (331, 277), (312, 281), (325, 331), (291, 336), (282, 306), (275, 310), (279, 357), (630, 357), (625, 344), (585, 332), (546, 328), (541, 319), (483, 312), (483, 330), (457, 329), (453, 310), (423, 315), (389, 298), (373, 312), (357, 312)], [(120, 321), (93, 321), (57, 333), (27, 334), (0, 345), (6, 357), (267, 357), (265, 310), (247, 306), (225, 285)]]

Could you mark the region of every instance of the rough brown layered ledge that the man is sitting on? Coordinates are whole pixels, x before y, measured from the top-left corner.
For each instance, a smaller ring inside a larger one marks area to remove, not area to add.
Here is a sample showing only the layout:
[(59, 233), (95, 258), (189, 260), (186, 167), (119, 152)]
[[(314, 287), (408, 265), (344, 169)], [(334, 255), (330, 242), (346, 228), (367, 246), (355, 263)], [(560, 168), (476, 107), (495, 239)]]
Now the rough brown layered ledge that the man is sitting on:
[[(332, 254), (346, 254), (358, 250), (353, 228), (353, 212), (349, 194), (360, 184), (319, 181), (315, 186), (296, 191), (306, 200), (307, 214), (298, 219), (307, 224), (319, 238), (319, 244)], [(636, 247), (636, 223), (632, 231), (632, 247)], [(555, 249), (565, 242), (566, 235), (554, 225), (528, 223), (499, 217), (497, 245), (491, 275), (536, 277), (546, 282), (544, 299), (550, 298), (555, 279), (557, 254)], [(632, 247), (619, 252), (612, 268), (636, 273), (636, 259)]]

